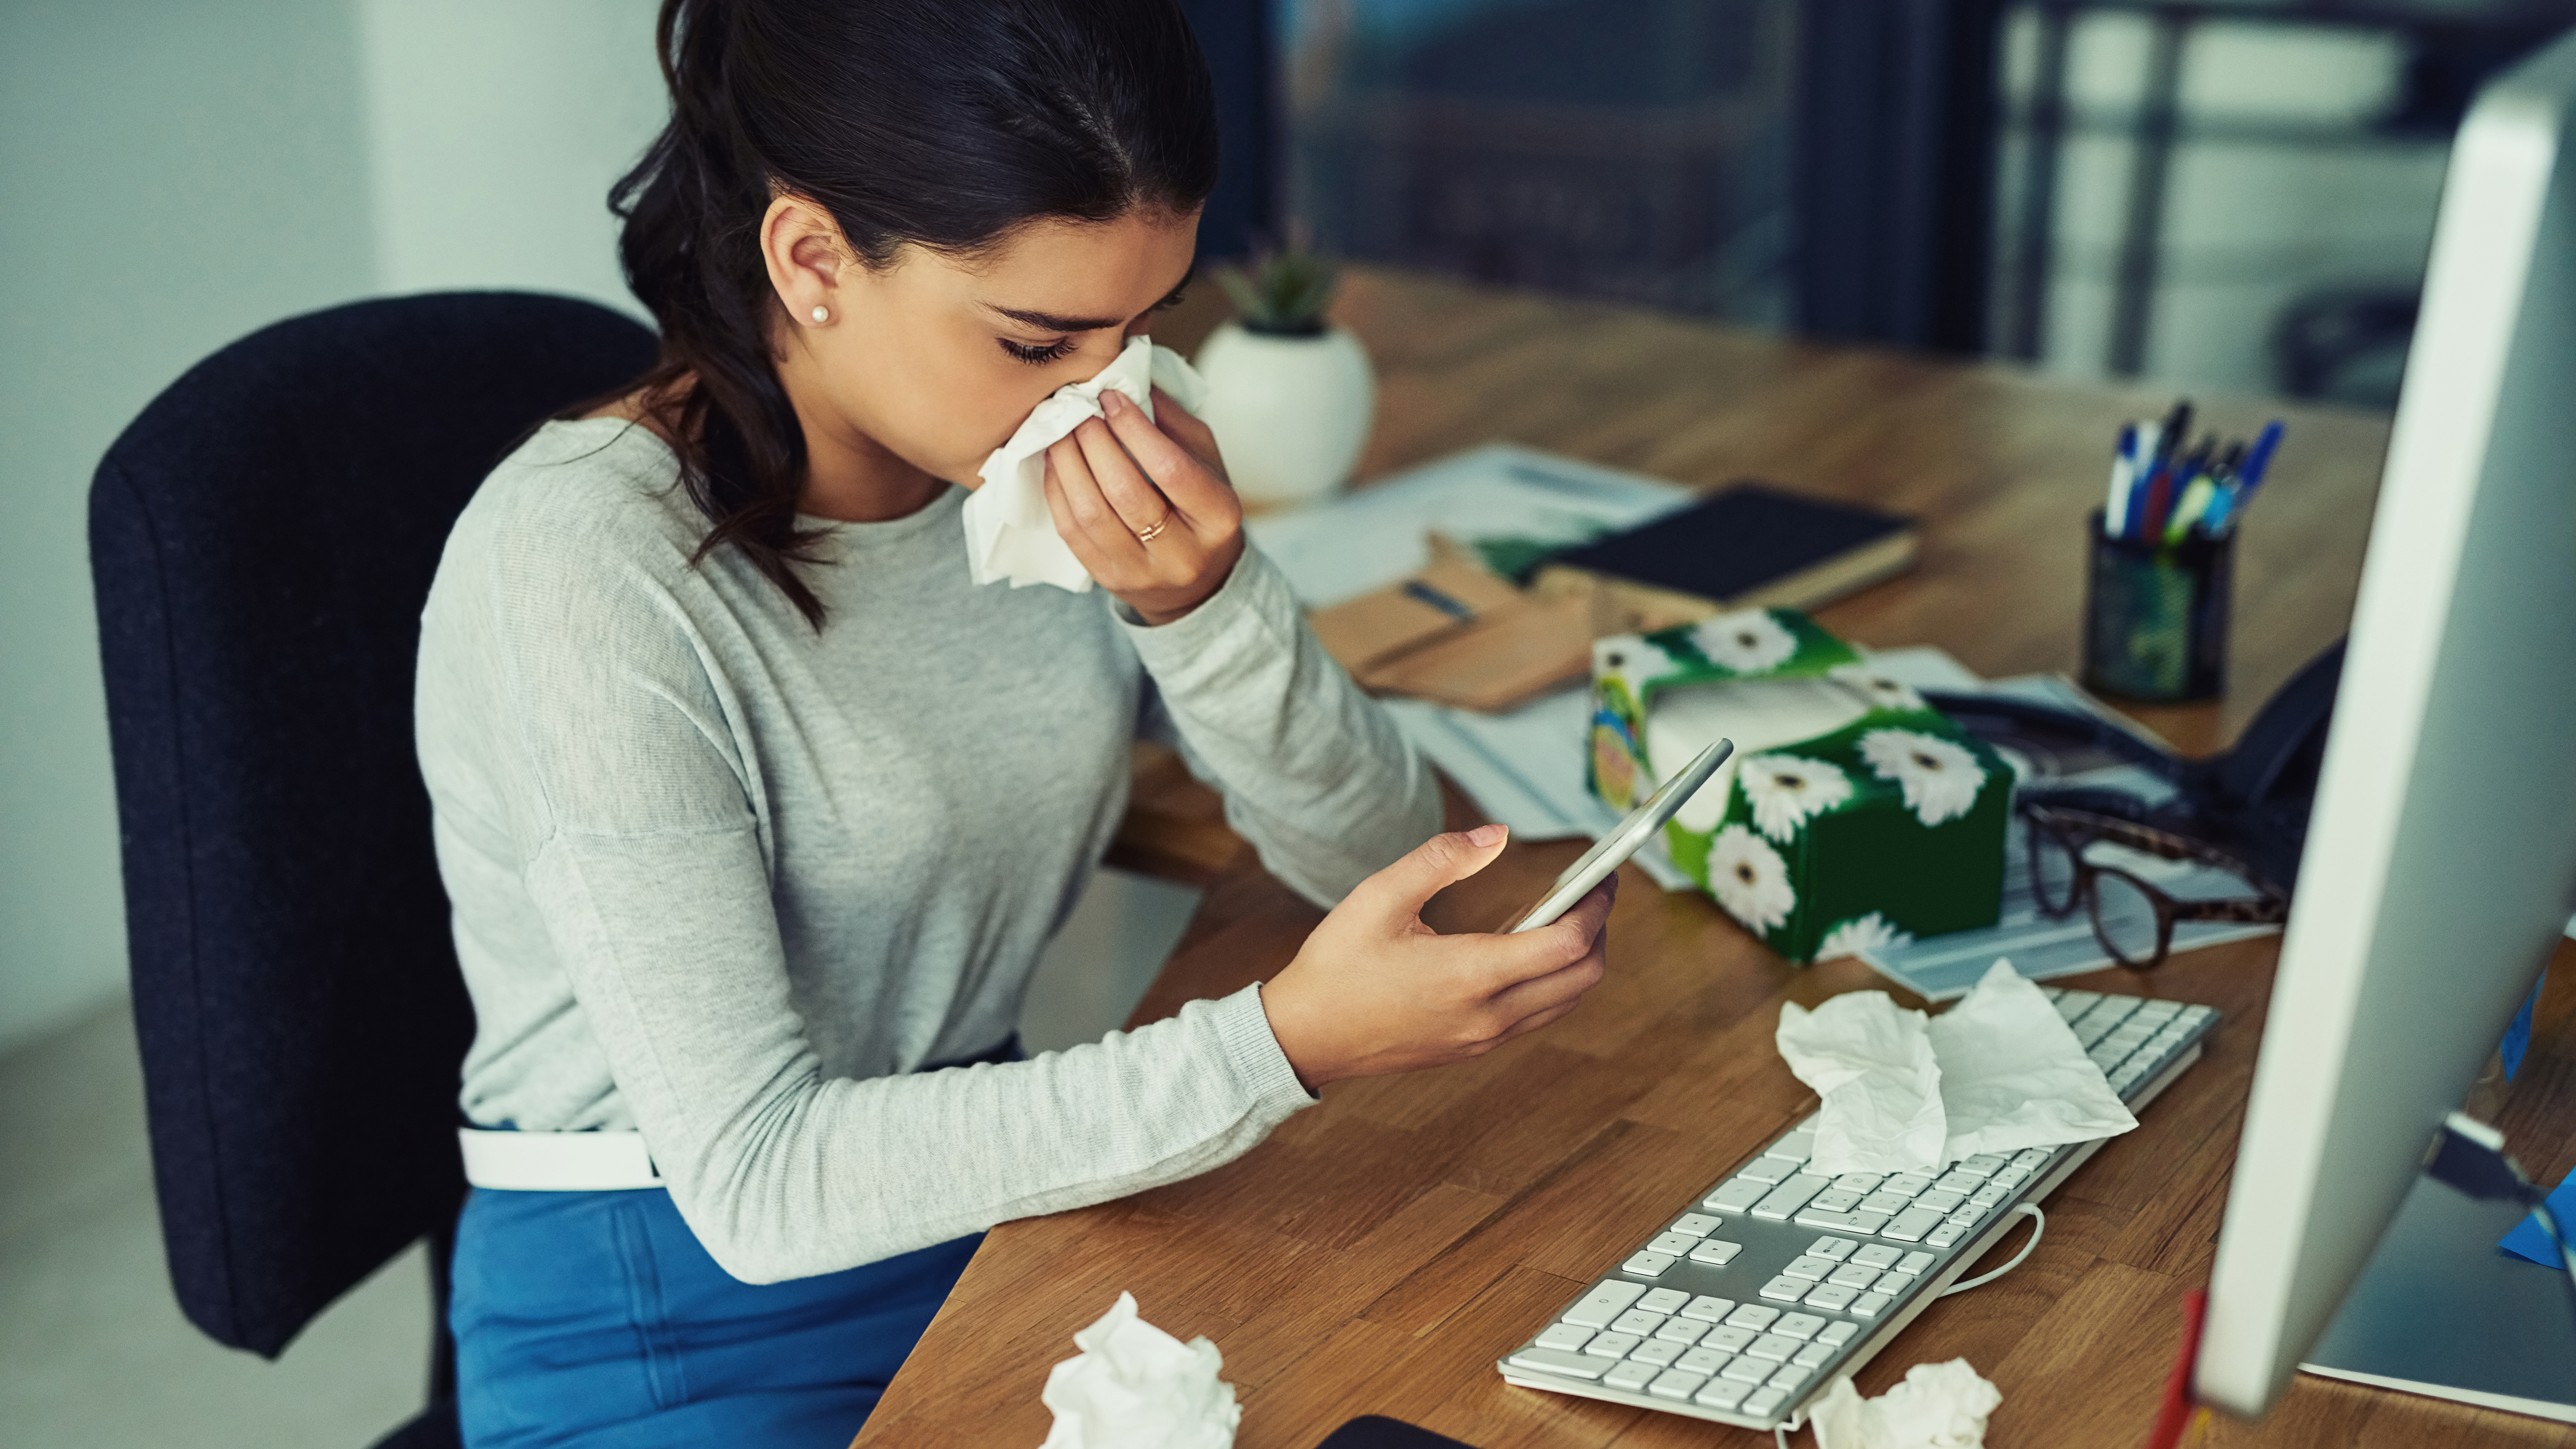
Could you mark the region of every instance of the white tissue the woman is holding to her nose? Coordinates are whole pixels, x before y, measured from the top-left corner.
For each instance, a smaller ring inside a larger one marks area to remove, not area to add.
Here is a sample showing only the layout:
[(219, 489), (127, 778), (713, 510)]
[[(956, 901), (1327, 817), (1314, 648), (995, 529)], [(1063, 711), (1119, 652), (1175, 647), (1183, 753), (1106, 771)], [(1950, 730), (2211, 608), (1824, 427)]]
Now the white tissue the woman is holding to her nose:
[(1084, 418), (1103, 418), (1105, 389), (1123, 392), (1151, 418), (1157, 387), (1190, 413), (1208, 397), (1208, 382), (1180, 353), (1154, 345), (1154, 338), (1128, 338), (1118, 361), (1090, 382), (1048, 392), (1020, 431), (984, 459), (976, 469), (984, 485), (966, 500), (966, 567), (976, 583), (1051, 583), (1074, 593), (1092, 585), (1082, 559), (1056, 534), (1056, 516), (1046, 511), (1046, 449)]

